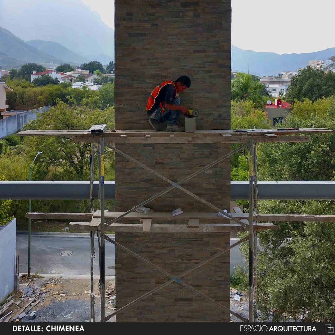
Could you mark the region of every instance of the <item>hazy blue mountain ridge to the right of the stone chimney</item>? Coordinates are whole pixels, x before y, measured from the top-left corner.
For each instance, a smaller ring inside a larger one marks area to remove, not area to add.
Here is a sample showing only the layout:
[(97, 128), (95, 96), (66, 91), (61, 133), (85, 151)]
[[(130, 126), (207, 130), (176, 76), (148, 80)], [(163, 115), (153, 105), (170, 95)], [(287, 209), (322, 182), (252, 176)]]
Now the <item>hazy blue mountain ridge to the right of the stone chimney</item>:
[(281, 71), (294, 71), (306, 67), (312, 59), (328, 59), (335, 55), (335, 48), (305, 54), (283, 54), (242, 50), (231, 46), (231, 68), (257, 75), (277, 75)]

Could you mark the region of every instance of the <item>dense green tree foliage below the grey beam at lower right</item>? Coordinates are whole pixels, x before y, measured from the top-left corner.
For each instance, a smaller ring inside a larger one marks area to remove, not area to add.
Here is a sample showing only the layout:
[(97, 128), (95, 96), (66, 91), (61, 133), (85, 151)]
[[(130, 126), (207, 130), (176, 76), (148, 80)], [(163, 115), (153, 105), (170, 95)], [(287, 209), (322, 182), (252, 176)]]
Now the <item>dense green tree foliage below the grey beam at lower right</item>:
[[(263, 200), (262, 213), (335, 213), (333, 201)], [(258, 234), (257, 294), (261, 318), (273, 322), (326, 322), (335, 318), (335, 225), (333, 222), (279, 222)], [(288, 239), (287, 238), (292, 238)], [(285, 240), (286, 239), (286, 240)], [(241, 248), (247, 258), (248, 244)], [(248, 274), (237, 272), (244, 289)], [(274, 312), (275, 311), (275, 312)]]

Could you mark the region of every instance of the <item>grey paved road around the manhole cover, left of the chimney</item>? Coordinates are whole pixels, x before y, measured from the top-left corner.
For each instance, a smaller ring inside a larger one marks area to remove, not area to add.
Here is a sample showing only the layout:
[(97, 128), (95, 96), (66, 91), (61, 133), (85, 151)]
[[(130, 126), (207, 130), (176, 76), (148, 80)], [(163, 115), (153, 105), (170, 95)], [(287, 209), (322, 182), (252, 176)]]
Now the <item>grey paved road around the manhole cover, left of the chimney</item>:
[[(19, 271), (27, 272), (28, 235), (16, 236)], [(99, 274), (98, 240), (94, 241), (94, 274)], [(60, 256), (63, 250), (72, 255)], [(115, 275), (115, 247), (105, 242), (106, 275)], [(31, 235), (31, 273), (90, 274), (90, 239), (83, 237), (52, 237)]]

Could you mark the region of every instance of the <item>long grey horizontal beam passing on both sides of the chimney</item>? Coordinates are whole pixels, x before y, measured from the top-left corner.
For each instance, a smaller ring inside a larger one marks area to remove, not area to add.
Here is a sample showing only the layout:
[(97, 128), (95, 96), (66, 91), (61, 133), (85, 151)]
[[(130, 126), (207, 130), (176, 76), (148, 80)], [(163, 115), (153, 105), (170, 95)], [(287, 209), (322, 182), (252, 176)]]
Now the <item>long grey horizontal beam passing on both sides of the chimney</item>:
[[(99, 183), (93, 183), (97, 199)], [(335, 199), (335, 182), (258, 182), (260, 199)], [(114, 199), (115, 182), (105, 182), (106, 199)], [(0, 199), (89, 199), (89, 182), (0, 182)], [(231, 182), (231, 200), (249, 199), (249, 182)]]

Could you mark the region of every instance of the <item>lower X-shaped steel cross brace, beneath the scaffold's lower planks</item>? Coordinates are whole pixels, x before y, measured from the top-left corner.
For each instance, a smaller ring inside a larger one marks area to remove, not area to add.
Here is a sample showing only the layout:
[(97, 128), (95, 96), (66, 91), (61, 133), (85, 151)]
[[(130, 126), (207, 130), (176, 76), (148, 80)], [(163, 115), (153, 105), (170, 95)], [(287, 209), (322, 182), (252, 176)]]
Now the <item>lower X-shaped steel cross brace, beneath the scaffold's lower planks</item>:
[(208, 259), (206, 259), (205, 261), (203, 261), (203, 262), (201, 262), (201, 263), (199, 263), (199, 264), (193, 266), (193, 267), (190, 268), (189, 270), (187, 270), (187, 271), (183, 272), (181, 275), (179, 275), (178, 278), (175, 277), (175, 276), (172, 276), (169, 272), (166, 272), (165, 270), (161, 269), (160, 267), (158, 267), (158, 266), (156, 266), (155, 264), (151, 263), (150, 261), (146, 260), (146, 259), (143, 258), (142, 256), (137, 255), (136, 253), (134, 253), (134, 252), (131, 251), (130, 249), (124, 247), (123, 245), (119, 244), (118, 242), (113, 241), (113, 240), (110, 239), (108, 236), (105, 236), (105, 239), (106, 239), (107, 241), (111, 242), (112, 244), (114, 244), (115, 246), (118, 246), (118, 247), (120, 247), (121, 249), (125, 250), (126, 252), (130, 253), (130, 254), (133, 255), (134, 257), (140, 259), (142, 262), (148, 264), (149, 266), (153, 267), (154, 269), (158, 270), (159, 272), (165, 274), (167, 277), (171, 278), (169, 281), (167, 281), (167, 282), (165, 282), (165, 283), (159, 285), (158, 287), (154, 288), (153, 290), (151, 290), (151, 291), (149, 291), (149, 292), (143, 294), (143, 295), (140, 296), (139, 298), (133, 300), (133, 301), (130, 302), (129, 304), (127, 304), (127, 305), (123, 306), (122, 308), (118, 309), (118, 310), (115, 311), (114, 313), (108, 315), (107, 317), (105, 317), (105, 322), (106, 322), (107, 320), (109, 320), (110, 318), (112, 318), (112, 317), (113, 317), (114, 315), (116, 315), (117, 313), (122, 312), (123, 310), (127, 309), (128, 307), (134, 305), (135, 303), (137, 303), (137, 302), (139, 302), (140, 300), (144, 299), (145, 297), (147, 297), (147, 296), (153, 294), (154, 292), (157, 292), (157, 291), (160, 290), (161, 288), (163, 288), (163, 287), (165, 287), (165, 286), (171, 284), (171, 283), (174, 282), (174, 281), (176, 281), (176, 282), (178, 282), (178, 283), (184, 285), (185, 287), (188, 287), (188, 288), (191, 289), (193, 292), (195, 292), (195, 293), (201, 295), (201, 296), (202, 296), (203, 298), (205, 298), (205, 299), (210, 300), (210, 301), (211, 301), (213, 304), (215, 304), (216, 306), (218, 306), (218, 307), (220, 307), (220, 308), (222, 308), (222, 309), (224, 309), (224, 310), (230, 312), (231, 314), (235, 315), (237, 318), (241, 319), (242, 321), (244, 321), (244, 322), (248, 322), (248, 319), (244, 318), (243, 316), (241, 316), (241, 315), (238, 314), (238, 313), (235, 313), (235, 312), (231, 311), (230, 309), (228, 309), (227, 307), (223, 306), (222, 304), (220, 304), (220, 303), (217, 302), (216, 300), (212, 299), (212, 298), (209, 297), (208, 295), (206, 295), (206, 294), (204, 294), (204, 293), (198, 291), (197, 289), (195, 289), (195, 288), (192, 287), (191, 285), (185, 283), (185, 282), (182, 281), (180, 278), (183, 277), (183, 276), (185, 276), (185, 275), (187, 275), (188, 273), (194, 271), (195, 269), (201, 267), (202, 265), (204, 265), (204, 264), (210, 262), (210, 261), (213, 260), (214, 258), (216, 258), (216, 257), (218, 257), (218, 256), (220, 256), (220, 255), (222, 255), (222, 254), (224, 254), (225, 252), (227, 252), (227, 251), (230, 250), (231, 248), (233, 248), (233, 247), (235, 247), (235, 246), (237, 246), (237, 245), (239, 245), (239, 244), (241, 244), (241, 243), (247, 241), (247, 240), (249, 239), (249, 236), (246, 236), (244, 239), (242, 239), (242, 240), (240, 240), (240, 241), (238, 241), (238, 242), (232, 244), (229, 248), (224, 249), (224, 250), (221, 250), (221, 251), (219, 251), (218, 253), (216, 253), (215, 255), (209, 257)]

